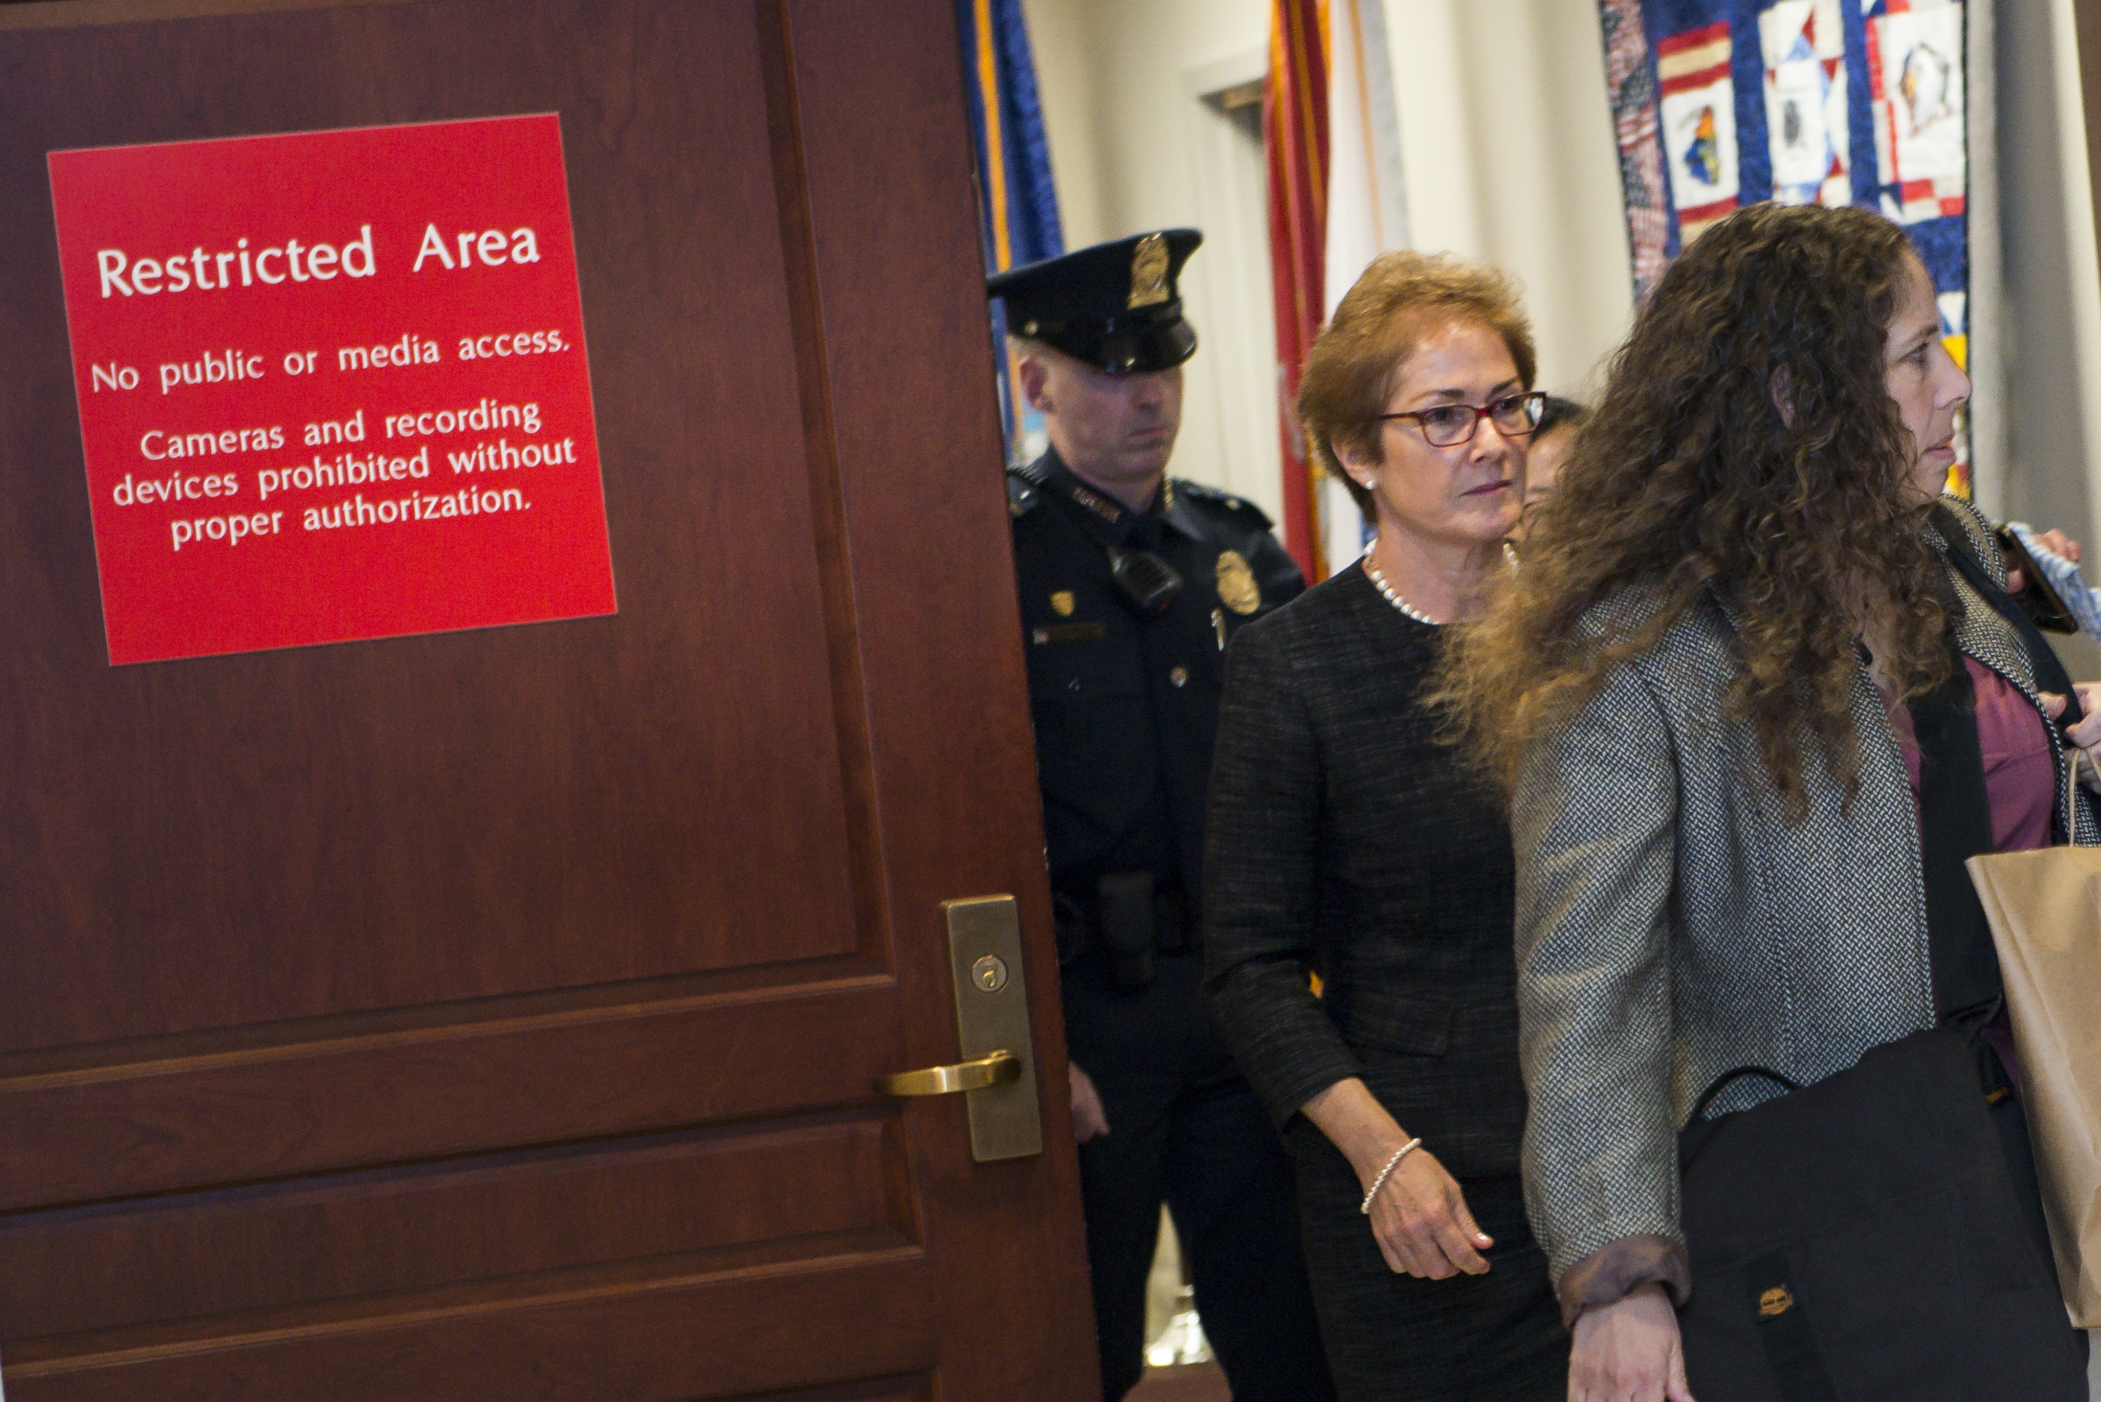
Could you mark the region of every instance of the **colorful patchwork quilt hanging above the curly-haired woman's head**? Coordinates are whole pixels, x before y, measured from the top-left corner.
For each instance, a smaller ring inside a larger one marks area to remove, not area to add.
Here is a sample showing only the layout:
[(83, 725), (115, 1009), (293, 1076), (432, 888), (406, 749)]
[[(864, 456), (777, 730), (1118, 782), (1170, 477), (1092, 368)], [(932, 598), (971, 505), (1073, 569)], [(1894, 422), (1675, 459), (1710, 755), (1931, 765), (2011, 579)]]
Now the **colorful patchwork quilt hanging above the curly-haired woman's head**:
[[(1635, 301), (1759, 200), (1904, 225), (1969, 364), (1962, 0), (1599, 0)], [(1969, 494), (1969, 429), (1950, 475)]]

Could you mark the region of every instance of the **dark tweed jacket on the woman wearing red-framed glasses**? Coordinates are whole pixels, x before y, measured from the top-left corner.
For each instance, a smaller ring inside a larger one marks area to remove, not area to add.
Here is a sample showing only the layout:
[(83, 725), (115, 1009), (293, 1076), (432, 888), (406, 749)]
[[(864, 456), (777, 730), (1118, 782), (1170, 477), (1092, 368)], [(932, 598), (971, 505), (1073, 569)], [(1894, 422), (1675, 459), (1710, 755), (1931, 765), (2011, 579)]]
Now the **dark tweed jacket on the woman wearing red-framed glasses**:
[(1416, 700), (1437, 633), (1351, 565), (1233, 639), (1204, 958), (1219, 1026), (1280, 1125), (1364, 1076), (1454, 1175), (1511, 1175), (1525, 1114), (1511, 837)]

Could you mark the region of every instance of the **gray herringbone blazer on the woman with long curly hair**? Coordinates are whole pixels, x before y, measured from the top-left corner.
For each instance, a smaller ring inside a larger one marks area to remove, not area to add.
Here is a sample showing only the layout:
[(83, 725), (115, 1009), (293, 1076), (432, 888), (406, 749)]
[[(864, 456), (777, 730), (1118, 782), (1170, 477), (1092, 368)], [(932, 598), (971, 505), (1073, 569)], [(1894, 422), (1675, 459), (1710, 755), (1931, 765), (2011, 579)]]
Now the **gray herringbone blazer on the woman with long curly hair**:
[[(1962, 502), (1985, 568), (2000, 559)], [(2021, 637), (1950, 570), (1962, 652), (2036, 698)], [(1626, 624), (1641, 599), (1599, 605)], [(1519, 1053), (1532, 1097), (1525, 1198), (1555, 1280), (1635, 1234), (1683, 1242), (1677, 1131), (1723, 1072), (1801, 1083), (1933, 1026), (1918, 820), (1866, 671), (1859, 792), (1811, 759), (1788, 826), (1750, 721), (1725, 719), (1735, 628), (1712, 597), (1525, 757), (1517, 847)], [(2040, 702), (2038, 702), (2040, 706)], [(2101, 841), (2059, 755), (2057, 841)], [(1719, 1108), (1754, 1104), (1738, 1083)]]

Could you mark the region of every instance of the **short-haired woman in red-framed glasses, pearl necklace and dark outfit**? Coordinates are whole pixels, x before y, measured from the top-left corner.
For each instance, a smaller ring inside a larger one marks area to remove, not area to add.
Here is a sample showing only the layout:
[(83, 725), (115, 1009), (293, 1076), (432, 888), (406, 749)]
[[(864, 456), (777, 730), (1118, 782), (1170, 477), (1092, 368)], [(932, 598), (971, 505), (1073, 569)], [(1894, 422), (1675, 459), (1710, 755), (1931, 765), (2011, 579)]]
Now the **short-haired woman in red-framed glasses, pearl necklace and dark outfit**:
[(1206, 975), (1292, 1148), (1345, 1402), (1567, 1385), (1519, 1181), (1511, 834), (1424, 696), (1441, 635), (1509, 574), (1532, 374), (1502, 275), (1372, 263), (1307, 357), (1298, 418), (1376, 540), (1227, 662)]

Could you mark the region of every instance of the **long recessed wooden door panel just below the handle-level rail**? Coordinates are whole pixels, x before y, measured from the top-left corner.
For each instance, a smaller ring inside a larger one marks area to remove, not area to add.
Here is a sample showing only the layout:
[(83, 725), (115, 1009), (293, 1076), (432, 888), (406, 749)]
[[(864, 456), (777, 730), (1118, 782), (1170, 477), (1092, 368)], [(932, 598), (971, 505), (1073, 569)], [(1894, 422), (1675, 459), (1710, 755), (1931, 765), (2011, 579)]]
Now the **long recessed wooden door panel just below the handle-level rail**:
[(912, 1244), (901, 1154), (895, 1114), (868, 1106), (17, 1213), (0, 1219), (0, 1318), (17, 1339), (195, 1318), (231, 1333), (227, 1316), (616, 1261)]

